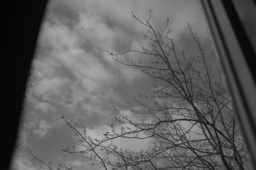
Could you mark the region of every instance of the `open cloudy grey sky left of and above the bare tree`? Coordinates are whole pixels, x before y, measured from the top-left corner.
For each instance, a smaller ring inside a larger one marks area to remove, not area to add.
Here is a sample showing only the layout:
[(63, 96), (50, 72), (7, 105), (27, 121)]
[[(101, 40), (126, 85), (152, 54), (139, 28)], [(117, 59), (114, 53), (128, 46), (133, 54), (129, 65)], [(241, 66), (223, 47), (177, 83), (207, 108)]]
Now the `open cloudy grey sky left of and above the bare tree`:
[[(114, 61), (107, 51), (141, 51), (137, 39), (144, 47), (150, 46), (143, 37), (148, 28), (132, 15), (133, 11), (144, 20), (149, 16), (148, 9), (153, 9), (150, 23), (155, 30), (163, 29), (169, 18), (167, 30), (173, 30), (170, 37), (178, 55), (183, 50), (188, 56), (199, 54), (187, 23), (198, 34), (206, 53), (210, 55), (214, 50), (200, 1), (49, 1), (32, 61), (32, 76), (27, 82), (34, 87), (26, 91), (20, 124), (17, 144), (24, 143), (14, 154), (13, 170), (36, 170), (40, 164), (31, 159), (26, 147), (43, 161), (52, 161), (56, 168), (64, 163), (74, 170), (100, 169), (79, 154), (61, 151), (78, 145), (61, 116), (78, 122), (80, 128), (86, 126), (93, 138), (102, 138), (106, 124), (114, 121), (113, 106), (131, 118), (140, 118), (130, 112), (140, 109), (133, 97), (138, 97), (138, 92), (151, 93), (153, 81), (140, 70)], [(255, 30), (255, 24), (251, 29)], [(134, 53), (119, 57), (126, 63), (131, 59), (151, 60)], [(152, 141), (116, 143), (136, 150), (147, 149)]]

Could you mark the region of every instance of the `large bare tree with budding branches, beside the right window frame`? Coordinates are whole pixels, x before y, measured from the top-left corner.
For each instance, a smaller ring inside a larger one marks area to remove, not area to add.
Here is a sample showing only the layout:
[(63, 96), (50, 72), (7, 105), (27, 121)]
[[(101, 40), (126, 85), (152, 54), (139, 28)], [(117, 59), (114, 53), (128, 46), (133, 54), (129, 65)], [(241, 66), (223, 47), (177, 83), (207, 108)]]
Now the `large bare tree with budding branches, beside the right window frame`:
[[(152, 10), (148, 10), (149, 19), (145, 22), (139, 20), (134, 14), (133, 17), (141, 24), (148, 27), (145, 39), (152, 41), (155, 45), (152, 50), (139, 45), (142, 51), (127, 51), (120, 54), (108, 52), (112, 58), (126, 66), (133, 66), (147, 74), (154, 83), (156, 89), (153, 94), (142, 95), (139, 98), (151, 98), (154, 105), (150, 106), (141, 100), (135, 101), (143, 106), (144, 111), (132, 111), (135, 114), (144, 114), (154, 117), (154, 121), (145, 123), (136, 122), (123, 115), (115, 107), (118, 116), (116, 121), (121, 124), (129, 124), (134, 129), (121, 128), (118, 134), (113, 126), (112, 132), (106, 132), (102, 140), (93, 140), (76, 129), (77, 124), (72, 125), (64, 116), (64, 121), (72, 128), (75, 135), (81, 138), (80, 142), (85, 147), (83, 151), (73, 151), (69, 148), (63, 150), (69, 153), (80, 153), (93, 165), (108, 169), (210, 169), (210, 170), (244, 170), (248, 155), (241, 132), (236, 123), (236, 111), (232, 106), (232, 98), (221, 81), (221, 71), (209, 63), (209, 58), (201, 45), (197, 34), (192, 31), (188, 23), (190, 36), (197, 44), (200, 56), (186, 57), (185, 52), (181, 56), (176, 54), (173, 40), (169, 38), (172, 32), (168, 30), (164, 37), (165, 28), (156, 32), (150, 24)], [(136, 52), (145, 54), (147, 57), (154, 57), (152, 65), (142, 65), (142, 61), (126, 64), (120, 61), (117, 56), (125, 53)], [(215, 53), (212, 57), (217, 60)], [(216, 72), (213, 75), (213, 72)], [(216, 78), (217, 77), (217, 78)], [(157, 85), (157, 83), (161, 85)], [(190, 125), (185, 128), (184, 125)], [(199, 130), (198, 130), (198, 128)], [(144, 133), (141, 137), (140, 133)], [(193, 136), (197, 135), (198, 138)], [(110, 144), (108, 141), (117, 138), (153, 138), (157, 141), (154, 147), (146, 151), (122, 150)], [(104, 155), (96, 150), (100, 148)], [(110, 161), (109, 156), (116, 157), (116, 161)]]

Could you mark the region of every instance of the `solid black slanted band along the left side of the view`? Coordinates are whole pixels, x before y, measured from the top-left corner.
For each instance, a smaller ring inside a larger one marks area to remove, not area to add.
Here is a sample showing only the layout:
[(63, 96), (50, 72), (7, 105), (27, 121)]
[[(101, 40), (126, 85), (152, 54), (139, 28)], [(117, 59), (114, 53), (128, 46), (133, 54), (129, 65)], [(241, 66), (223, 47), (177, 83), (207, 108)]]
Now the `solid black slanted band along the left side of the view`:
[[(2, 1), (1, 169), (9, 169), (21, 118), (22, 96), (48, 0)], [(4, 101), (3, 101), (4, 100)]]

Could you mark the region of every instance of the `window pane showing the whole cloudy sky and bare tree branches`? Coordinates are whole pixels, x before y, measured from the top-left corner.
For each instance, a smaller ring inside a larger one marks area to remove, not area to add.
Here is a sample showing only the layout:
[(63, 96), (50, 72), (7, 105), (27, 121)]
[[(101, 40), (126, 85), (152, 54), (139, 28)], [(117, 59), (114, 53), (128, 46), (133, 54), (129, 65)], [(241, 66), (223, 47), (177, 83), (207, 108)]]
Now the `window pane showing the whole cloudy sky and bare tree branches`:
[(41, 163), (27, 146), (56, 167), (246, 169), (220, 61), (200, 1), (51, 1), (14, 169)]

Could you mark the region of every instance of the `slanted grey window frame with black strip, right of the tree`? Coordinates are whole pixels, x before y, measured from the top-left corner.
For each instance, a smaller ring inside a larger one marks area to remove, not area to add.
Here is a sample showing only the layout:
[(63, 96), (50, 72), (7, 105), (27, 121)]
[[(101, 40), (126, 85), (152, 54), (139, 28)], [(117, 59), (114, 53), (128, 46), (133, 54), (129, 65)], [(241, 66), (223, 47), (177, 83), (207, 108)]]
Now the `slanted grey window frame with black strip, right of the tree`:
[(230, 0), (201, 0), (232, 95), (247, 152), (256, 169), (256, 85), (253, 60), (242, 23)]

